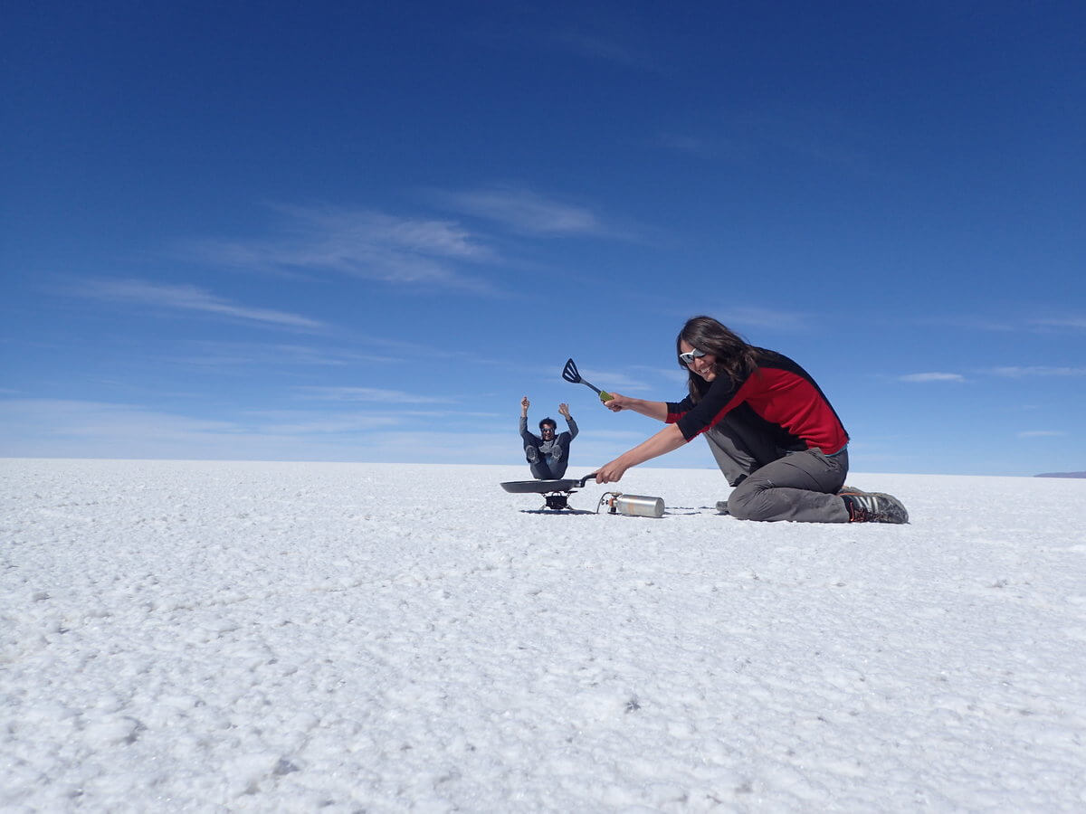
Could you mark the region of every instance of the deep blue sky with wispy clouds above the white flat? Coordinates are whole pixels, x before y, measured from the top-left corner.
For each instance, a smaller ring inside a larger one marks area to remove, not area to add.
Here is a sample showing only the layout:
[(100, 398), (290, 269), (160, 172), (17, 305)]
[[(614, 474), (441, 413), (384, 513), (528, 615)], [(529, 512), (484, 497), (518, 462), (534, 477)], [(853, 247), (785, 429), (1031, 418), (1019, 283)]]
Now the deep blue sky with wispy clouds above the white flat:
[(527, 394), (586, 473), (658, 424), (566, 358), (675, 400), (708, 314), (854, 470), (1086, 469), (1082, 3), (8, 9), (0, 456), (518, 463)]

